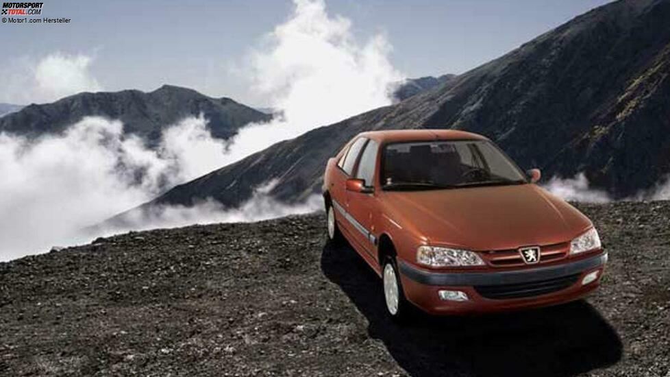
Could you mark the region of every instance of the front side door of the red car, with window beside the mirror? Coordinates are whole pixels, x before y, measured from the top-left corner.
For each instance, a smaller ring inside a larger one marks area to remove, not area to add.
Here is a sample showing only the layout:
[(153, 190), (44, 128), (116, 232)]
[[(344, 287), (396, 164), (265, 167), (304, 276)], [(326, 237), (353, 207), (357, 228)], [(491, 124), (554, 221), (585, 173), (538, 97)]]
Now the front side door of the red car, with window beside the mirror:
[[(373, 187), (377, 170), (377, 155), (379, 154), (379, 144), (374, 140), (369, 140), (365, 145), (353, 178), (365, 181), (365, 186)], [(347, 212), (352, 218), (353, 226), (356, 228), (355, 236), (360, 245), (365, 249), (371, 258), (376, 260), (375, 256), (375, 228), (374, 228), (374, 209), (377, 196), (375, 192), (357, 193), (347, 191)]]

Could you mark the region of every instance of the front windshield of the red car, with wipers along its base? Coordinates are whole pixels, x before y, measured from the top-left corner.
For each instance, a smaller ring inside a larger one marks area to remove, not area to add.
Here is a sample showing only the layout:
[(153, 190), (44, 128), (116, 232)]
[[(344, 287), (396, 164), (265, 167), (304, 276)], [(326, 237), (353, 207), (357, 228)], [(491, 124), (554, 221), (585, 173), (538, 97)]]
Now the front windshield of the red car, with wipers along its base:
[(385, 190), (453, 189), (528, 182), (489, 141), (418, 141), (384, 148)]

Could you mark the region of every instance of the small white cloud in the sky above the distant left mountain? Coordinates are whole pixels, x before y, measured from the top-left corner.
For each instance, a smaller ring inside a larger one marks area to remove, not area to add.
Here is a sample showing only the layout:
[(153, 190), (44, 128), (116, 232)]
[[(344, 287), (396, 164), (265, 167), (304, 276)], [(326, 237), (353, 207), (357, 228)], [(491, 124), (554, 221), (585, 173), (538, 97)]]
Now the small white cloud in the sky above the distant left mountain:
[(15, 58), (6, 62), (0, 102), (42, 104), (62, 97), (102, 90), (90, 67), (93, 59), (84, 54), (51, 53), (40, 59)]

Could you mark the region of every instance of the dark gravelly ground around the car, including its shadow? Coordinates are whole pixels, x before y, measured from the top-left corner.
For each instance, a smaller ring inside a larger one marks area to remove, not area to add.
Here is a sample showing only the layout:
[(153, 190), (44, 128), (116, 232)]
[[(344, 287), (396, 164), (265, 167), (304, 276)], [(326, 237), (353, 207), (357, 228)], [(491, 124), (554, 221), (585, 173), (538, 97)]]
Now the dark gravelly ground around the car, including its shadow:
[(322, 214), (0, 263), (0, 375), (670, 376), (670, 202), (580, 208), (610, 252), (586, 302), (406, 327)]

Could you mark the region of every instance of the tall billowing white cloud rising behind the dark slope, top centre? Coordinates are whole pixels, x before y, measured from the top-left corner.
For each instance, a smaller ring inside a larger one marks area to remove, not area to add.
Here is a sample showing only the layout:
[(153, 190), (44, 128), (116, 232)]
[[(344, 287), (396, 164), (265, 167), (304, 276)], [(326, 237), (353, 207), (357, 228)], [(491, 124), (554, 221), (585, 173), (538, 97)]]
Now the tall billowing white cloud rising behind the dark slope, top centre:
[(252, 90), (283, 117), (245, 127), (232, 140), (227, 162), (322, 125), (392, 103), (388, 88), (403, 80), (388, 60), (382, 35), (360, 43), (351, 22), (330, 16), (322, 0), (295, 0), (293, 14), (249, 56)]

